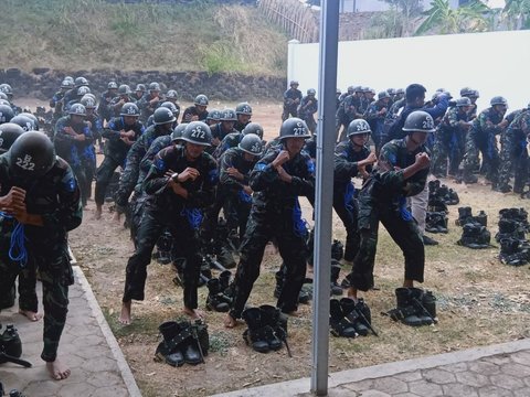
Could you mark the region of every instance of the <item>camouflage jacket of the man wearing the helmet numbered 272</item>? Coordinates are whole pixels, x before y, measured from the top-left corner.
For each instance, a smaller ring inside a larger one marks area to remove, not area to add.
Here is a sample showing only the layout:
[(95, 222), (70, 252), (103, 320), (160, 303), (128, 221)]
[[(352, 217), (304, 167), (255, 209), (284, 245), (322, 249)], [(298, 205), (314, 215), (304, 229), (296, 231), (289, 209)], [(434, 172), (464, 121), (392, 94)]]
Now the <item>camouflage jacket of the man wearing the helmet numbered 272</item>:
[[(188, 198), (184, 198), (174, 194), (169, 186), (167, 173), (180, 173), (189, 167), (198, 170), (199, 176), (194, 181), (181, 183), (188, 191)], [(203, 152), (199, 159), (189, 161), (184, 147), (172, 146), (162, 149), (155, 157), (151, 169), (144, 180), (144, 191), (149, 195), (147, 203), (151, 208), (174, 218), (181, 216), (183, 210), (201, 210), (211, 205), (215, 200), (218, 179), (218, 163), (210, 154)]]

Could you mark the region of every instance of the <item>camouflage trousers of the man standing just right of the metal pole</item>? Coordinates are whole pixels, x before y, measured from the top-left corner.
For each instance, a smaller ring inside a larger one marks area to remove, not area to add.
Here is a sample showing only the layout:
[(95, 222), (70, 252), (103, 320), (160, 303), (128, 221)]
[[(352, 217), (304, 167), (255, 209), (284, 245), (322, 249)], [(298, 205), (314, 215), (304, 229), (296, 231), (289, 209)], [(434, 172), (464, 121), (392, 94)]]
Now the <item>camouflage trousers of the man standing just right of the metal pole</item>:
[(351, 193), (348, 189), (336, 189), (333, 191), (333, 210), (346, 227), (346, 247), (344, 260), (351, 261), (359, 250), (359, 228), (357, 227), (357, 216), (359, 213), (357, 200), (353, 197), (353, 186)]

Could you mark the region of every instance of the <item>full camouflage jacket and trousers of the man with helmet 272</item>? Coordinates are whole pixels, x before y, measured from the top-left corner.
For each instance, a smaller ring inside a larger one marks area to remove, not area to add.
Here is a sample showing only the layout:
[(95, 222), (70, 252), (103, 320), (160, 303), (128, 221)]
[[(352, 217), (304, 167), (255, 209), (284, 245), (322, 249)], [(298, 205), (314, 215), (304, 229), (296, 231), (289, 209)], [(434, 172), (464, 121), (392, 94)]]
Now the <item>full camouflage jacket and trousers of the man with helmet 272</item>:
[[(183, 198), (174, 194), (168, 185), (166, 173), (170, 170), (182, 172), (188, 167), (197, 169), (200, 174), (194, 181), (181, 183), (188, 191), (188, 198)], [(188, 309), (198, 307), (197, 285), (201, 256), (197, 235), (200, 215), (197, 212), (212, 203), (216, 181), (218, 164), (208, 153), (202, 153), (195, 161), (189, 161), (186, 158), (186, 148), (176, 146), (166, 148), (156, 155), (144, 181), (148, 197), (138, 229), (138, 245), (127, 262), (124, 302), (144, 300), (147, 266), (151, 261), (152, 249), (161, 233), (169, 228), (173, 243), (179, 245), (186, 258), (184, 305)]]

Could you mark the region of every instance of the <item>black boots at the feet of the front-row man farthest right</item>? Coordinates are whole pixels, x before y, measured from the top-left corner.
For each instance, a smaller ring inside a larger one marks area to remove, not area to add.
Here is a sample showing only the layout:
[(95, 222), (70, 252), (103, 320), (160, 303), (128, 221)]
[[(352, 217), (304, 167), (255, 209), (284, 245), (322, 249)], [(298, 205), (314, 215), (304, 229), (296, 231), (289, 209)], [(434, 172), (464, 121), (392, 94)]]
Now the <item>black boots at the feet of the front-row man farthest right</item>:
[(388, 315), (394, 321), (405, 325), (420, 326), (437, 323), (436, 298), (431, 291), (420, 288), (396, 288), (396, 308), (390, 310)]

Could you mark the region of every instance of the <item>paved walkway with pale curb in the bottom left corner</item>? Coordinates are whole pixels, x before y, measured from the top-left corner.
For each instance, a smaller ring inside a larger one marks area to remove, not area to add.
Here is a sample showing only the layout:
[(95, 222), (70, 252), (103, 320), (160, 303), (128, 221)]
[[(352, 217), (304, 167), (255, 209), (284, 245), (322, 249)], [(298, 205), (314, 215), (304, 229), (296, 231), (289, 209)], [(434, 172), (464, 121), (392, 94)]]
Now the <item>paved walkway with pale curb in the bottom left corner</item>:
[[(0, 323), (14, 323), (22, 340), (22, 357), (33, 364), (0, 365), (0, 382), (6, 393), (18, 389), (29, 397), (139, 397), (135, 378), (108, 328), (83, 271), (74, 266), (75, 285), (70, 289), (66, 325), (59, 347), (72, 369), (65, 380), (53, 380), (40, 358), (43, 321), (32, 323), (18, 314), (18, 304), (0, 313)], [(39, 283), (38, 296), (41, 297)], [(42, 309), (41, 309), (42, 312)]]

